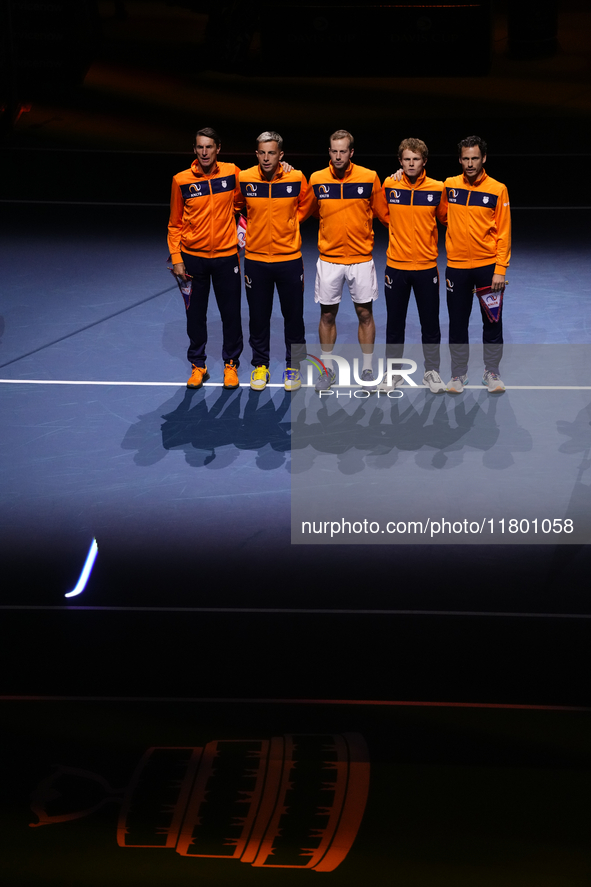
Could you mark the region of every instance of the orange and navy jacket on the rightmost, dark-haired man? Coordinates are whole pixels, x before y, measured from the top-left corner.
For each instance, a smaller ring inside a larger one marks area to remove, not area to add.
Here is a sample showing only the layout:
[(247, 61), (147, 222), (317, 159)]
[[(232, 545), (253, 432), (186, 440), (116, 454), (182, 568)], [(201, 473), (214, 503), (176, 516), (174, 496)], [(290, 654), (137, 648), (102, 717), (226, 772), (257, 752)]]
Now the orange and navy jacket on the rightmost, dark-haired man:
[(445, 248), (452, 268), (481, 268), (495, 263), (505, 274), (511, 258), (509, 194), (486, 172), (474, 185), (462, 174), (443, 183), (438, 218), (447, 225)]

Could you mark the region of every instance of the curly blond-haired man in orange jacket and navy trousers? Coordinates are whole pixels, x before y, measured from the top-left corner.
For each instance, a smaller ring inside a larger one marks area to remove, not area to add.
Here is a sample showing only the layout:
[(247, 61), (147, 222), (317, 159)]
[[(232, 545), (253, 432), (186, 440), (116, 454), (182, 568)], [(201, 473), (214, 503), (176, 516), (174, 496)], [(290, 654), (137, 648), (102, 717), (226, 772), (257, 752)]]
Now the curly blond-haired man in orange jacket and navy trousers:
[[(385, 275), (386, 356), (402, 357), (406, 315), (414, 290), (425, 359), (423, 384), (434, 393), (445, 391), (439, 375), (439, 271), (437, 219), (443, 182), (425, 172), (429, 152), (421, 139), (404, 139), (398, 148), (401, 176), (389, 176), (383, 193), (389, 229)], [(400, 384), (402, 376), (394, 377)], [(388, 383), (380, 388), (387, 389)]]

